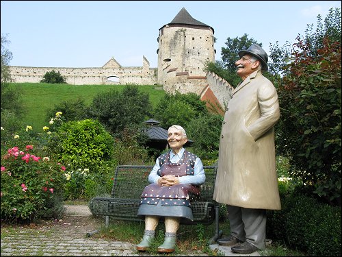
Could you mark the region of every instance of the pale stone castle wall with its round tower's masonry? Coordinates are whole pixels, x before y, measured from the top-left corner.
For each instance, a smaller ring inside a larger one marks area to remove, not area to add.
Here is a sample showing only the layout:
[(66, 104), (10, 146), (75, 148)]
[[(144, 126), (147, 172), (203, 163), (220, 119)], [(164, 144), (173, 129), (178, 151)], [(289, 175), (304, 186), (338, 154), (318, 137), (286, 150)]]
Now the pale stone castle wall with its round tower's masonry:
[[(190, 18), (192, 19), (191, 16), (187, 16), (186, 19)], [(213, 29), (207, 25), (194, 25), (194, 23), (169, 23), (159, 29), (157, 40), (159, 44), (157, 68), (150, 68), (148, 60), (143, 56), (142, 67), (122, 67), (111, 58), (102, 67), (10, 66), (10, 73), (14, 82), (38, 83), (45, 73), (54, 69), (66, 77), (68, 84), (73, 85), (159, 84), (167, 93), (178, 90), (180, 93), (191, 92), (200, 95), (208, 85), (207, 72), (204, 71), (205, 64), (215, 62)], [(111, 78), (115, 78), (114, 81)]]

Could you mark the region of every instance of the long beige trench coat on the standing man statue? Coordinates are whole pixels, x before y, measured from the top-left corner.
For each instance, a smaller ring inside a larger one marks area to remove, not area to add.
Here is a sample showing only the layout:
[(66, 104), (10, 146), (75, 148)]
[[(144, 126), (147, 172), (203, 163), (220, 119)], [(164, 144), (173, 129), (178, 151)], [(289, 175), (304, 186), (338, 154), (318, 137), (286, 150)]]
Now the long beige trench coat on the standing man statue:
[(222, 123), (215, 201), (280, 210), (274, 147), (279, 117), (276, 88), (261, 71), (235, 88)]

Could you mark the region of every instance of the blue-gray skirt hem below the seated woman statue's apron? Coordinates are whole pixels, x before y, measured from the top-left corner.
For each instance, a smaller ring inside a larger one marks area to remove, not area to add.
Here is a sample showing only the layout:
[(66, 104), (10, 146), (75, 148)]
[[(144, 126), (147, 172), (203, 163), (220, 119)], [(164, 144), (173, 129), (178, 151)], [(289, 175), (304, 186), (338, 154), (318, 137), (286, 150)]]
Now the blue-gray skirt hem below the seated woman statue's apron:
[(162, 206), (161, 201), (157, 205), (140, 204), (137, 210), (137, 217), (144, 219), (145, 216), (159, 217), (181, 217), (184, 219), (194, 220), (192, 216), (192, 208), (187, 206)]

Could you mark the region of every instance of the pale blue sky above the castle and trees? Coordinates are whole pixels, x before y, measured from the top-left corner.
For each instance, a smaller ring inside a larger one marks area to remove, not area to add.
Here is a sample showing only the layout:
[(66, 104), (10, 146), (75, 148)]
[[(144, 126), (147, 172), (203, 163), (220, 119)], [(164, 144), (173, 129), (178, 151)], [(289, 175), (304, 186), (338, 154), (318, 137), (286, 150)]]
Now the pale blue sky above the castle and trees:
[(227, 38), (248, 34), (262, 43), (295, 42), (341, 1), (1, 1), (1, 35), (10, 41), (11, 66), (156, 68), (159, 29), (185, 8), (213, 27), (215, 60)]

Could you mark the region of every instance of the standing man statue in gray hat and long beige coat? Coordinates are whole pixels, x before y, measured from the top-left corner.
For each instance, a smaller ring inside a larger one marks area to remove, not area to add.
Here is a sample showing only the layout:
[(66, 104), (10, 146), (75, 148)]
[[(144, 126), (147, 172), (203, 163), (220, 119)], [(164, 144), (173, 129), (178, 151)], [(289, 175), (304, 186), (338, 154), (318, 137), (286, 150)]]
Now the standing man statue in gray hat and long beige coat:
[(218, 239), (232, 252), (265, 249), (266, 210), (280, 210), (274, 125), (278, 95), (267, 71), (267, 53), (257, 44), (239, 51), (235, 62), (243, 80), (226, 108), (213, 199), (226, 204), (231, 234)]

